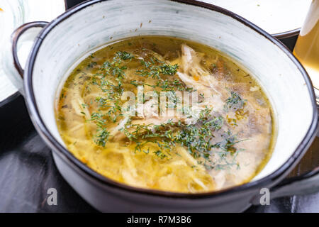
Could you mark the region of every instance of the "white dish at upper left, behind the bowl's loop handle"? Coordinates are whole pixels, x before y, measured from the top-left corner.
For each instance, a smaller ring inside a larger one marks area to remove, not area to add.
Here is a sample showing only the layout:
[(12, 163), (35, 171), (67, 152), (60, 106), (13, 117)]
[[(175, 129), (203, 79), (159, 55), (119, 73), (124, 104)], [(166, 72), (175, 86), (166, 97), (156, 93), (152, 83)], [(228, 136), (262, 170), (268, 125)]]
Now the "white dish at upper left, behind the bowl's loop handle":
[[(52, 21), (65, 11), (64, 0), (0, 0), (0, 106), (10, 96), (15, 96), (18, 89), (8, 78), (8, 70), (4, 69), (11, 52), (4, 51), (11, 47), (11, 33), (23, 23), (30, 21)], [(29, 50), (19, 53), (22, 63), (26, 62)]]

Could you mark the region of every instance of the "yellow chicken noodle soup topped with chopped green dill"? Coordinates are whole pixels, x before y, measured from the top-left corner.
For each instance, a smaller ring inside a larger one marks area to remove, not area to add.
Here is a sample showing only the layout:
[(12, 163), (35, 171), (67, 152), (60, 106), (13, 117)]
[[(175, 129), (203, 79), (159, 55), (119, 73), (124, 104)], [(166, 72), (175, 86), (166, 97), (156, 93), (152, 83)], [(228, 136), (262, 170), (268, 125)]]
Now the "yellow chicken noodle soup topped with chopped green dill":
[(68, 150), (133, 187), (211, 192), (249, 182), (272, 154), (272, 106), (228, 56), (200, 43), (139, 36), (106, 45), (59, 90)]

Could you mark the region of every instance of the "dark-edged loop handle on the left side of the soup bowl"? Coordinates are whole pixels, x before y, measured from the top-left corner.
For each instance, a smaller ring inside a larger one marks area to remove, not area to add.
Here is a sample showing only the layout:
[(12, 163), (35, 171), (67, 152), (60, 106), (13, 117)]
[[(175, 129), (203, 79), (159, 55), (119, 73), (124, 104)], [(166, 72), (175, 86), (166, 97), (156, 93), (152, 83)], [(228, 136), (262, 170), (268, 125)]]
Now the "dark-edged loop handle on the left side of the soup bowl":
[(18, 60), (18, 52), (17, 52), (17, 44), (18, 40), (25, 33), (29, 28), (44, 28), (47, 26), (48, 22), (45, 21), (34, 21), (30, 23), (25, 23), (22, 26), (18, 27), (15, 31), (13, 31), (11, 35), (11, 42), (12, 42), (12, 55), (13, 55), (13, 64), (14, 67), (16, 67), (16, 70), (23, 78), (23, 68), (20, 65), (20, 62)]

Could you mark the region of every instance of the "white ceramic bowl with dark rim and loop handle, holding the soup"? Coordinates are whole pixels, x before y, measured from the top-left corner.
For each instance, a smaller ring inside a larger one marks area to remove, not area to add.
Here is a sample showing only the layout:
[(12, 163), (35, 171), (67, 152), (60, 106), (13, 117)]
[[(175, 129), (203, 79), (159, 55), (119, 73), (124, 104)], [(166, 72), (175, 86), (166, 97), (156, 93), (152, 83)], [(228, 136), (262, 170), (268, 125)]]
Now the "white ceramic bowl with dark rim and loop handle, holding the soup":
[[(36, 25), (20, 28), (13, 47), (21, 33)], [(252, 182), (203, 194), (138, 189), (97, 174), (69, 153), (54, 114), (57, 91), (67, 72), (102, 45), (136, 35), (169, 35), (204, 43), (233, 58), (262, 85), (274, 107), (278, 135), (271, 159)], [(261, 188), (274, 187), (289, 173), (318, 124), (312, 84), (291, 52), (244, 18), (196, 1), (95, 0), (63, 13), (35, 39), (24, 71), (24, 89), (35, 128), (52, 148), (62, 176), (101, 211), (241, 211), (258, 201)]]

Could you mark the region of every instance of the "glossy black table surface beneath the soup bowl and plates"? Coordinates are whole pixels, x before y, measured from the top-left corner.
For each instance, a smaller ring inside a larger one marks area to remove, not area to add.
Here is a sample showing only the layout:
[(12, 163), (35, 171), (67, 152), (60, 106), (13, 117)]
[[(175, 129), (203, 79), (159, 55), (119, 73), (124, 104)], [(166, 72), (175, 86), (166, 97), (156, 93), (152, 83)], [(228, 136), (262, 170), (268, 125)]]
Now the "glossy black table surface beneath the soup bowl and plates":
[[(77, 1), (68, 1), (72, 6)], [(283, 40), (293, 48), (296, 37)], [(22, 96), (0, 107), (0, 212), (96, 212), (65, 182), (51, 151), (28, 116)], [(301, 175), (319, 166), (319, 139), (291, 172)], [(57, 189), (57, 206), (47, 204), (47, 189)], [(319, 212), (319, 192), (273, 199), (269, 206), (247, 212)]]

